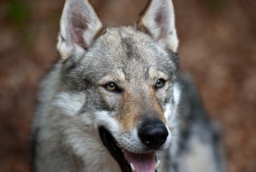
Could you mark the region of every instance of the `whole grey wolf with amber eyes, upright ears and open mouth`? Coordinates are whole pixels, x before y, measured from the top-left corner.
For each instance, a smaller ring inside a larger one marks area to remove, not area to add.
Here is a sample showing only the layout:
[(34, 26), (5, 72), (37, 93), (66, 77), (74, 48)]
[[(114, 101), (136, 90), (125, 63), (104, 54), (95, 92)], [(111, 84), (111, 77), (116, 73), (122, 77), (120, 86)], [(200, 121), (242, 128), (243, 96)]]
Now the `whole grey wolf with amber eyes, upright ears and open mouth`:
[(219, 126), (179, 72), (178, 44), (171, 0), (149, 1), (134, 27), (105, 27), (88, 0), (66, 0), (33, 171), (224, 171)]

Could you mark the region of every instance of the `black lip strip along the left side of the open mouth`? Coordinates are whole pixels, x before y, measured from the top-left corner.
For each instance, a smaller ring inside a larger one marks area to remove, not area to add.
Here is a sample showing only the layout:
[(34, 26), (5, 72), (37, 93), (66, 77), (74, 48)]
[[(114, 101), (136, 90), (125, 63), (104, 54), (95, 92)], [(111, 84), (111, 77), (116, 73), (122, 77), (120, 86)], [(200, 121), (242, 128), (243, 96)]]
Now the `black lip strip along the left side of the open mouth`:
[(111, 156), (117, 161), (122, 172), (132, 172), (131, 166), (128, 164), (127, 160), (124, 158), (124, 153), (117, 146), (115, 138), (110, 134), (110, 132), (103, 126), (98, 128), (98, 133), (101, 137), (103, 145), (108, 149)]

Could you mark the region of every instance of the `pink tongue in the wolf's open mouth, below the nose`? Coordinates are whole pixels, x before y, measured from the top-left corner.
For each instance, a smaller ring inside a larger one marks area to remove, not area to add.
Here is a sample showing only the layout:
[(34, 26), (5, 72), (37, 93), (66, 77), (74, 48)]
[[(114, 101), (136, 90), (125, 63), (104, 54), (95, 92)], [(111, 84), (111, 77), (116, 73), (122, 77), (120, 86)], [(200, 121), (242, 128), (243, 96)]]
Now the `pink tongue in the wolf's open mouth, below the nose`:
[(129, 164), (134, 164), (136, 172), (153, 172), (155, 168), (155, 152), (132, 154), (125, 151), (124, 157)]

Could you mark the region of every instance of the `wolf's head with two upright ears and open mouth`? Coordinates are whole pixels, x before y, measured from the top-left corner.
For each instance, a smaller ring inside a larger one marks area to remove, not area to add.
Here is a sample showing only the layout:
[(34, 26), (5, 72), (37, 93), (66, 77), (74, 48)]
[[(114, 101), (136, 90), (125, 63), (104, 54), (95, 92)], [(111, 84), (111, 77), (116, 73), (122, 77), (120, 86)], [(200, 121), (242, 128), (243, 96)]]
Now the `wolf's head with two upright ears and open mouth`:
[(154, 171), (156, 152), (171, 143), (177, 47), (171, 0), (149, 1), (136, 27), (117, 28), (103, 27), (87, 0), (65, 3), (57, 45), (63, 89), (85, 95), (74, 115), (92, 115), (122, 171)]

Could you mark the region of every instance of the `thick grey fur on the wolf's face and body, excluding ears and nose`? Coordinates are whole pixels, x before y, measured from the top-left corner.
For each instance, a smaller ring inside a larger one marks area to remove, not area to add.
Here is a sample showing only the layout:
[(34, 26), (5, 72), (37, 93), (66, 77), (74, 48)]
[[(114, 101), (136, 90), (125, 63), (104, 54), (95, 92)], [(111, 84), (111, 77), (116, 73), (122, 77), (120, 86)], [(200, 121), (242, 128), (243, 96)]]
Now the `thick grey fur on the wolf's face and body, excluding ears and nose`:
[[(60, 41), (58, 50), (65, 57), (42, 81), (34, 117), (34, 171), (120, 171), (98, 127), (108, 128), (125, 150), (149, 152), (136, 131), (144, 119), (160, 119), (161, 114), (169, 136), (158, 150), (158, 172), (224, 171), (219, 129), (207, 117), (190, 79), (179, 74), (177, 54), (169, 46), (135, 27), (107, 28), (95, 41), (85, 42), (90, 45), (85, 49), (79, 42)], [(167, 83), (154, 90), (159, 78)], [(110, 81), (122, 93), (106, 91)], [(122, 131), (122, 120), (131, 114), (136, 121)], [(198, 147), (205, 151), (200, 154)], [(209, 166), (195, 161), (201, 157)]]

